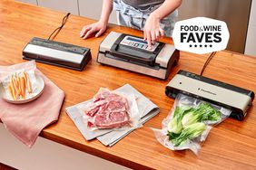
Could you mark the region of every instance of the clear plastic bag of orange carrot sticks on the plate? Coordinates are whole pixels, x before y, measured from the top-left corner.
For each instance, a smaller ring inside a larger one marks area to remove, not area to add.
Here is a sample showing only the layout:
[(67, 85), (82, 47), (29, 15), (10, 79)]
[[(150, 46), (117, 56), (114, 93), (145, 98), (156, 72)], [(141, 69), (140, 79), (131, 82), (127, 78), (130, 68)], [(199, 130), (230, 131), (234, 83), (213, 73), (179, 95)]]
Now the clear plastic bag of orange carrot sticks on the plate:
[(13, 71), (1, 78), (1, 82), (10, 100), (24, 100), (37, 94), (35, 67)]

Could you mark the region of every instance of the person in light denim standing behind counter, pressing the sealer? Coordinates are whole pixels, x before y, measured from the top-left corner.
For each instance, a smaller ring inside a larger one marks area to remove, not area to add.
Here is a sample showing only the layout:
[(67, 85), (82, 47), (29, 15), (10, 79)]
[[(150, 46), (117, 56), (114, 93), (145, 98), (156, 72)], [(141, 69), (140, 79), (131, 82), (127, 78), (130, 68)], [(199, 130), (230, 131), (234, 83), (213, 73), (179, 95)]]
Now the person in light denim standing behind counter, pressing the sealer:
[(94, 24), (85, 25), (80, 36), (87, 39), (95, 34), (99, 37), (107, 28), (113, 7), (120, 25), (143, 30), (144, 41), (148, 48), (161, 36), (172, 36), (176, 22), (177, 8), (182, 0), (103, 0), (101, 18)]

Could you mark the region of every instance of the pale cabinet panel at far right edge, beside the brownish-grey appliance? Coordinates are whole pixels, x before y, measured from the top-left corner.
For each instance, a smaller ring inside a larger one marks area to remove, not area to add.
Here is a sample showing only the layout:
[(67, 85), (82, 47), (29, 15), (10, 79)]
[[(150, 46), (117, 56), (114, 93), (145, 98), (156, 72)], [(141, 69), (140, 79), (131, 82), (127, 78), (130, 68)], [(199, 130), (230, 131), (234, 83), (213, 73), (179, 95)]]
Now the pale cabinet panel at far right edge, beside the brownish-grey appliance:
[(252, 0), (245, 54), (256, 57), (256, 0)]

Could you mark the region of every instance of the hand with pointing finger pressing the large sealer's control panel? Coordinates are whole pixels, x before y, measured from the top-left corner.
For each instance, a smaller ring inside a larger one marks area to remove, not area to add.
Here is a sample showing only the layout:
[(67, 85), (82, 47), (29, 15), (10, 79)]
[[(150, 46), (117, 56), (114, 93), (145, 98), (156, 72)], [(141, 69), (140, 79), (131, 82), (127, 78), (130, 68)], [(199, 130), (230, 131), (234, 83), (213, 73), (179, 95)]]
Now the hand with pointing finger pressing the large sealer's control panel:
[(156, 14), (150, 14), (144, 26), (144, 41), (148, 42), (148, 48), (152, 49), (152, 43), (157, 42), (164, 31), (160, 27), (160, 18)]

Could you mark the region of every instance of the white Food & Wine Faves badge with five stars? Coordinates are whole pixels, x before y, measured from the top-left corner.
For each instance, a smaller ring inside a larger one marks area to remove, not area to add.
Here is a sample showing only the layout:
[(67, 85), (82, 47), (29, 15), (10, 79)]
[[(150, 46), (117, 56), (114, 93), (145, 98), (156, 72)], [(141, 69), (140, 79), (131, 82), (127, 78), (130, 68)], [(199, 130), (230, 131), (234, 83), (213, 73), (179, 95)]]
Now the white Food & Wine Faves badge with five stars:
[(176, 49), (203, 54), (226, 49), (230, 33), (225, 22), (196, 17), (177, 22), (172, 38)]

